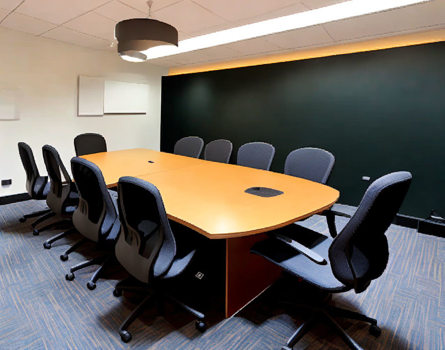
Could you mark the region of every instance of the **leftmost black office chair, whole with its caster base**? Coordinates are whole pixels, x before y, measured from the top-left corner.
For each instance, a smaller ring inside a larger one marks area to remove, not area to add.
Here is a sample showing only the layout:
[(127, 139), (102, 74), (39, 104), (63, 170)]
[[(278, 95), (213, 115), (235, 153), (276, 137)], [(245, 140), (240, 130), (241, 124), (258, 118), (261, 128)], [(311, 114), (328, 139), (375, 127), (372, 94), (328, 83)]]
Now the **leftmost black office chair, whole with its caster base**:
[[(23, 168), (26, 173), (26, 190), (32, 199), (46, 199), (46, 196), (50, 190), (50, 183), (48, 182), (48, 176), (40, 176), (39, 170), (34, 159), (31, 147), (24, 142), (18, 143), (18, 153), (23, 164)], [(42, 221), (49, 219), (56, 215), (51, 212), (51, 209), (45, 209), (36, 211), (31, 214), (23, 215), (18, 221), (25, 222), (29, 218), (34, 218), (37, 216), (42, 216), (41, 218), (34, 221), (31, 226), (41, 223)]]

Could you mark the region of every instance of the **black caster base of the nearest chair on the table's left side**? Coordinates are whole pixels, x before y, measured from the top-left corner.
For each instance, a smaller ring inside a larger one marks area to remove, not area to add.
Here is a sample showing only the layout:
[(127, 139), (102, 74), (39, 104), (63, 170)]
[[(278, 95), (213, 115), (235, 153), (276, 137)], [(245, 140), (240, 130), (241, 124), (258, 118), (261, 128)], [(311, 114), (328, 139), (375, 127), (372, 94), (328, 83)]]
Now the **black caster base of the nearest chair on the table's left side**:
[(128, 328), (130, 327), (130, 325), (146, 310), (145, 306), (148, 304), (148, 302), (154, 300), (158, 304), (158, 313), (160, 315), (163, 314), (165, 301), (168, 300), (170, 303), (181, 307), (182, 309), (196, 317), (195, 328), (199, 332), (204, 333), (207, 330), (207, 323), (205, 321), (205, 315), (203, 313), (191, 308), (190, 306), (184, 304), (173, 296), (165, 293), (161, 288), (148, 286), (146, 283), (142, 283), (136, 280), (134, 277), (129, 277), (116, 284), (113, 290), (113, 295), (115, 297), (120, 297), (123, 291), (148, 292), (148, 295), (144, 298), (144, 300), (139, 303), (136, 309), (131, 312), (131, 314), (119, 327), (119, 335), (124, 343), (129, 343), (132, 339), (130, 332), (128, 332)]

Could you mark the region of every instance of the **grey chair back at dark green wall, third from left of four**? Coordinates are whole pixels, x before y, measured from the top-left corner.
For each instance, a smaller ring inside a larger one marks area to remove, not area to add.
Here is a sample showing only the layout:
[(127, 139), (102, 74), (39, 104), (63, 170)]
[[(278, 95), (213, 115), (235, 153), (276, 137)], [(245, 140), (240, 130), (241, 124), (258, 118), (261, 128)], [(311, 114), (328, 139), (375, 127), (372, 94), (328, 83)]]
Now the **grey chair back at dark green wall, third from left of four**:
[(265, 142), (250, 142), (238, 149), (236, 164), (243, 167), (269, 170), (274, 156), (274, 146)]

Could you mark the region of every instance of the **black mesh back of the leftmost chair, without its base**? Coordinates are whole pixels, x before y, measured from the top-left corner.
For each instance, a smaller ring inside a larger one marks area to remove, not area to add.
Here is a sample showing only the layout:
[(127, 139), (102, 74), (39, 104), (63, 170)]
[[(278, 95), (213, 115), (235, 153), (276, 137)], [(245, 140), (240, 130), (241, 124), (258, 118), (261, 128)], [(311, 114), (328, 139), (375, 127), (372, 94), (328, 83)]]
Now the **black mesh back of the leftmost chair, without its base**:
[(31, 147), (24, 142), (19, 142), (18, 153), (26, 173), (26, 191), (33, 199), (45, 199), (44, 189), (48, 177), (40, 176)]

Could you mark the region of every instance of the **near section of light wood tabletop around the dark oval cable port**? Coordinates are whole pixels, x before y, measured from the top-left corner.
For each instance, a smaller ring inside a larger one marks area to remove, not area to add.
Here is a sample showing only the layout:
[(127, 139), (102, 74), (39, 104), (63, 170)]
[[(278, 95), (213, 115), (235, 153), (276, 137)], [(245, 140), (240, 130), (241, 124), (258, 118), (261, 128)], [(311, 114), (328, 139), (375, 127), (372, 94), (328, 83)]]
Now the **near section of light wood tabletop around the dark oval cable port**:
[[(215, 162), (138, 177), (159, 189), (170, 219), (212, 239), (286, 226), (331, 207), (340, 194), (302, 178)], [(260, 197), (244, 192), (257, 186), (284, 193)]]

